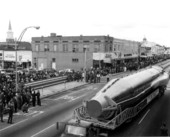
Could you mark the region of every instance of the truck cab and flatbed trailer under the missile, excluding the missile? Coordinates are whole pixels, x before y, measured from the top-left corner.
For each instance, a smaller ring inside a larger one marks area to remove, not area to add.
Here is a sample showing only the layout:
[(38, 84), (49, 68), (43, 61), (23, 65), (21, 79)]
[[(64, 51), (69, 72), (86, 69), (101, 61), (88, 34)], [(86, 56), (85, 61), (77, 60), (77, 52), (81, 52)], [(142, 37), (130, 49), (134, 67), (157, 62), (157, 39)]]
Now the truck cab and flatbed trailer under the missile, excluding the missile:
[[(152, 100), (164, 94), (164, 90), (156, 89), (145, 99), (134, 107), (126, 108), (113, 119), (100, 121), (88, 115), (84, 105), (74, 110), (73, 118), (66, 122), (57, 122), (57, 129), (63, 128), (62, 137), (108, 137), (109, 134), (125, 122), (129, 122), (133, 117), (138, 115)], [(70, 129), (70, 130), (69, 130)], [(72, 133), (72, 134), (71, 134)]]

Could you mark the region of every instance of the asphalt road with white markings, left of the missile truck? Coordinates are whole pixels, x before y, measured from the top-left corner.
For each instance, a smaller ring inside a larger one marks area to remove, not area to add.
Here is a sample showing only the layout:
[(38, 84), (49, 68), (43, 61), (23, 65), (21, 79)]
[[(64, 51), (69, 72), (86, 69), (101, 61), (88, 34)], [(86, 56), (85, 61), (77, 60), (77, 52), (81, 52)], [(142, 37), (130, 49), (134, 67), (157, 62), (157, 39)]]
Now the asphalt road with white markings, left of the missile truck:
[[(18, 112), (14, 124), (0, 123), (0, 137), (50, 137), (57, 133), (55, 123), (67, 121), (74, 108), (93, 96), (104, 84), (90, 84), (42, 100), (42, 106), (31, 108), (28, 114)], [(4, 117), (7, 121), (7, 116)], [(48, 134), (49, 133), (49, 134)]]

